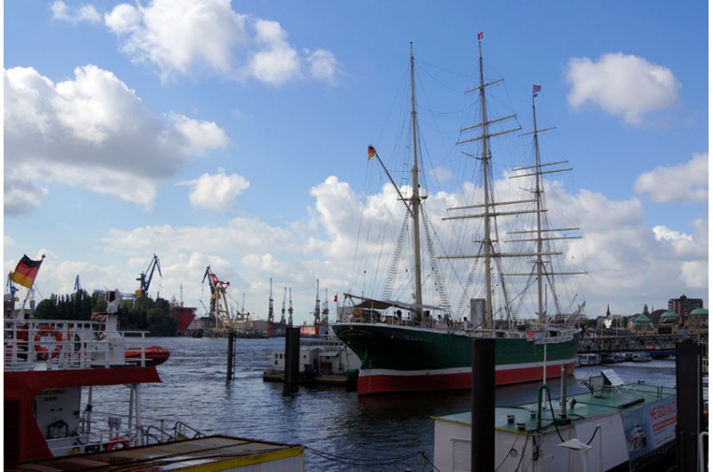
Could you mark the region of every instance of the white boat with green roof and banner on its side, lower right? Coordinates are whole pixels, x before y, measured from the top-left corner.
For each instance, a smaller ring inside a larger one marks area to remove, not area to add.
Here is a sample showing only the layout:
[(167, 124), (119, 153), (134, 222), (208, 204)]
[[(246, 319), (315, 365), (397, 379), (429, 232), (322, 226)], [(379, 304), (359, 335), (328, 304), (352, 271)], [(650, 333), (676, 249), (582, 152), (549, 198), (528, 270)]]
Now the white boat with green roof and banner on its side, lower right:
[[(676, 389), (625, 385), (612, 370), (589, 378), (590, 391), (564, 405), (540, 399), (496, 408), (497, 470), (586, 472), (638, 470), (676, 444)], [(552, 406), (551, 406), (552, 405)], [(435, 418), (434, 465), (472, 470), (471, 411)]]

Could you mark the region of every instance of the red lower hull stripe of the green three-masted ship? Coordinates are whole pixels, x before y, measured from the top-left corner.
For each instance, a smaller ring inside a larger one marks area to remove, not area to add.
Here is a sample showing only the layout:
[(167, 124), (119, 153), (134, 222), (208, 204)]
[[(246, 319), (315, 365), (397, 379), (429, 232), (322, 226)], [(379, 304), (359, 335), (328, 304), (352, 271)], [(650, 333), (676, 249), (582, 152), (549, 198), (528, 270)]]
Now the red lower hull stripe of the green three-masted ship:
[[(547, 365), (547, 378), (558, 378), (561, 375), (561, 365), (567, 366), (567, 374), (574, 372), (574, 362), (559, 362)], [(498, 366), (496, 370), (496, 385), (520, 384), (543, 378), (542, 365), (509, 368)], [(434, 390), (470, 389), (472, 383), (471, 370), (455, 372), (391, 372), (375, 373), (361, 370), (356, 384), (358, 395), (383, 394), (389, 392), (425, 392)]]

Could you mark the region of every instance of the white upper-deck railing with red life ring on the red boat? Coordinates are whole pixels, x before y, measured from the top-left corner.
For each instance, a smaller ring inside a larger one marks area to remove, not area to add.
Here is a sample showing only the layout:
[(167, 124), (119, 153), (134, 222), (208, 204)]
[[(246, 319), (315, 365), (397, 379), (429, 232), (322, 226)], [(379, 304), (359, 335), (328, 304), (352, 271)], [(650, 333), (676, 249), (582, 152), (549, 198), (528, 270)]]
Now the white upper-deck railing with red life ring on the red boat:
[[(4, 320), (4, 370), (70, 370), (126, 365), (126, 332), (102, 321)], [(144, 332), (132, 333), (132, 365), (146, 365)]]

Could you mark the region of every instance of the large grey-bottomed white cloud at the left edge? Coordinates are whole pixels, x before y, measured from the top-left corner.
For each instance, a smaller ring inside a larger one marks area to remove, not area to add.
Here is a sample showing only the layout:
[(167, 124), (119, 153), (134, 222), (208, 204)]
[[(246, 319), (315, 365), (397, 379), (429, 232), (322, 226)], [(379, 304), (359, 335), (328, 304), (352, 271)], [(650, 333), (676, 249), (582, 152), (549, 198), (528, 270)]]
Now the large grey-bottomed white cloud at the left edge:
[(187, 159), (228, 143), (214, 123), (169, 117), (152, 115), (118, 77), (94, 65), (56, 85), (35, 69), (5, 69), (5, 182), (35, 185), (24, 202), (12, 185), (5, 198), (14, 211), (29, 210), (46, 195), (39, 185), (52, 182), (150, 208), (156, 185)]

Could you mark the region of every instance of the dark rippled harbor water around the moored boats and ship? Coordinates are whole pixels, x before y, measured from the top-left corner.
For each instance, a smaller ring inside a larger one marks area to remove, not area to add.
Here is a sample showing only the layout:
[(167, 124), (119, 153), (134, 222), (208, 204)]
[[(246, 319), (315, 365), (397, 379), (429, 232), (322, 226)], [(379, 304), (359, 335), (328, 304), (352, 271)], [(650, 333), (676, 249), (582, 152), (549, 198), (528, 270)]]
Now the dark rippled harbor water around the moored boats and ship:
[[(299, 387), (287, 395), (283, 384), (262, 379), (270, 354), (284, 347), (284, 338), (237, 339), (235, 375), (229, 381), (227, 339), (150, 341), (168, 347), (171, 356), (158, 367), (162, 383), (142, 387), (144, 424), (179, 420), (207, 435), (302, 444), (307, 447), (306, 470), (432, 470), (431, 417), (471, 410), (469, 392), (359, 397), (341, 387)], [(675, 387), (675, 364), (661, 360), (579, 368), (568, 378), (568, 394), (586, 391), (582, 381), (602, 368), (613, 368), (626, 383)], [(496, 404), (535, 401), (538, 385), (498, 387)], [(559, 381), (548, 385), (559, 396)], [(96, 410), (111, 408), (111, 397), (124, 397), (111, 391), (103, 396), (94, 395)]]

